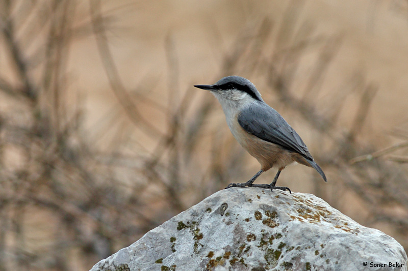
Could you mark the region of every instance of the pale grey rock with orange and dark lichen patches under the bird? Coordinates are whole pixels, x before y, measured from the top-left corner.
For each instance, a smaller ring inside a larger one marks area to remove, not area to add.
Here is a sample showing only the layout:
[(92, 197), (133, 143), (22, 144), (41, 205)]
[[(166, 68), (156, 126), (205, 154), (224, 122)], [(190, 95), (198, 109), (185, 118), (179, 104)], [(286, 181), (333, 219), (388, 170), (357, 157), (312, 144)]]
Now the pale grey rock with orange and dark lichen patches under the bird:
[(231, 188), (91, 270), (407, 270), (407, 257), (395, 239), (314, 195)]

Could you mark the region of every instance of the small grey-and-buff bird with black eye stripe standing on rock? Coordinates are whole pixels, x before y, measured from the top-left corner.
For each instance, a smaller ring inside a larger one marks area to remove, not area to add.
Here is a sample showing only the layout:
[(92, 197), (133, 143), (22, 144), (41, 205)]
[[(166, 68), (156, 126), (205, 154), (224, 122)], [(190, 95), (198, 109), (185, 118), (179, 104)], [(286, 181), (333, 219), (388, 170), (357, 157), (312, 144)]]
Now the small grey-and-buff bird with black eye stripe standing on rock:
[[(327, 182), (326, 175), (315, 162), (296, 131), (275, 109), (262, 99), (258, 89), (248, 79), (227, 76), (212, 85), (194, 85), (210, 91), (220, 102), (226, 123), (238, 143), (261, 164), (261, 170), (246, 183), (232, 183), (231, 187), (259, 187), (273, 191), (292, 191), (276, 186), (281, 171), (292, 163), (313, 167)], [(268, 184), (253, 184), (263, 172), (272, 167), (278, 171)]]

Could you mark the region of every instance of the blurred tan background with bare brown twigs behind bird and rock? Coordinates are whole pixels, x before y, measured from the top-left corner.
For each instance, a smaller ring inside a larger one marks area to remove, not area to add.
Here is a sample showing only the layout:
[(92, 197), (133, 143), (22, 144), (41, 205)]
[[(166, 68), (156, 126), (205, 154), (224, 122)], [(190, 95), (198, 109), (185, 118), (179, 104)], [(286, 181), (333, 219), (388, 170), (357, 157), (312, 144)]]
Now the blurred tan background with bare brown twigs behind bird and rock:
[(408, 248), (406, 0), (0, 0), (0, 27), (0, 270), (88, 270), (246, 182), (258, 162), (193, 87), (227, 75), (328, 178), (279, 185)]

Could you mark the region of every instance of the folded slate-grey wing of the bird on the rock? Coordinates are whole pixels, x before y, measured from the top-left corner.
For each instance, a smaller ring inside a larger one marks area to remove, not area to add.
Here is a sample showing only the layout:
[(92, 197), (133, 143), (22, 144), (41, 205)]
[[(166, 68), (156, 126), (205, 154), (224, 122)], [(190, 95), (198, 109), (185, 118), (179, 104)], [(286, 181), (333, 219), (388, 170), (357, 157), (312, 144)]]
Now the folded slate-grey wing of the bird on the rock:
[(308, 147), (285, 119), (268, 105), (252, 106), (238, 115), (238, 123), (248, 133), (299, 153), (313, 161)]

